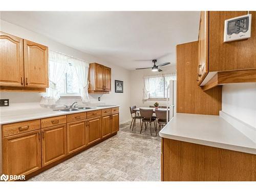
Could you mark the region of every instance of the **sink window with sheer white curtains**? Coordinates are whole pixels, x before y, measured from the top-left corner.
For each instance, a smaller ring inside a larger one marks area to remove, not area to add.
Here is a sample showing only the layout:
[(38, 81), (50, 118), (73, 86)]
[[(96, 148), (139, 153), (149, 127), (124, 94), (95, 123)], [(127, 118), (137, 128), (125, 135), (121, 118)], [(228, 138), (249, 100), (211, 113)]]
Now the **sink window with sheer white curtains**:
[(63, 98), (81, 98), (89, 102), (89, 63), (62, 53), (49, 51), (49, 88), (40, 104), (54, 105)]

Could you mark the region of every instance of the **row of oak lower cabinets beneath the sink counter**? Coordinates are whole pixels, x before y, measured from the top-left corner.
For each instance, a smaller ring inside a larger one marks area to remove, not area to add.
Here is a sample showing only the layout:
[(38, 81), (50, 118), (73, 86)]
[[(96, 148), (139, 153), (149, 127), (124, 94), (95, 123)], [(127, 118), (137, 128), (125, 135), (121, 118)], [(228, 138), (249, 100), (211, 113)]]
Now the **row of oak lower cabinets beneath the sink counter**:
[[(92, 118), (71, 114), (68, 123), (62, 115), (3, 125), (3, 173), (29, 179), (119, 131), (119, 113), (111, 108), (103, 110), (104, 116), (101, 110), (87, 113)], [(71, 122), (77, 119), (73, 116), (84, 119)]]

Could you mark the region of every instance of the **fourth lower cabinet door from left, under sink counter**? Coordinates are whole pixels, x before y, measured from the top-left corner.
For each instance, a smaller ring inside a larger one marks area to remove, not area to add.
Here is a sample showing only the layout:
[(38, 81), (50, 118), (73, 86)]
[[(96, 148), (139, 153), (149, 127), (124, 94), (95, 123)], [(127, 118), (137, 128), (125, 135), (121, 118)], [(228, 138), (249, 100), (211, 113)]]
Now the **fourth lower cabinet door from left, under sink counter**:
[(101, 139), (101, 117), (87, 121), (88, 144), (92, 144)]

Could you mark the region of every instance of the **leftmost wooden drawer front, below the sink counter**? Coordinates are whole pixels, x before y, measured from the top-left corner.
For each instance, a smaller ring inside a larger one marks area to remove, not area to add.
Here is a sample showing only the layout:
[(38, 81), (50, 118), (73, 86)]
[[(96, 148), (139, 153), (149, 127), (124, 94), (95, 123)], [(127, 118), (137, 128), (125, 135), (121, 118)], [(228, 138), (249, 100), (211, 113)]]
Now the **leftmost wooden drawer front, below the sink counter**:
[(2, 125), (3, 137), (40, 129), (40, 119)]

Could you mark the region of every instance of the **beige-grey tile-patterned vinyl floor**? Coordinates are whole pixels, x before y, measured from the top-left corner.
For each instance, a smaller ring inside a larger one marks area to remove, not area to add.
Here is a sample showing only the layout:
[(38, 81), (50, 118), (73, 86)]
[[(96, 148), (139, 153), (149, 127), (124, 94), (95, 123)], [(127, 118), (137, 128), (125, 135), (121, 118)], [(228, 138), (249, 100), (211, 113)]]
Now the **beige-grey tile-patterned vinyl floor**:
[(47, 169), (29, 181), (160, 181), (161, 138), (152, 124), (140, 134), (130, 123), (117, 135)]

